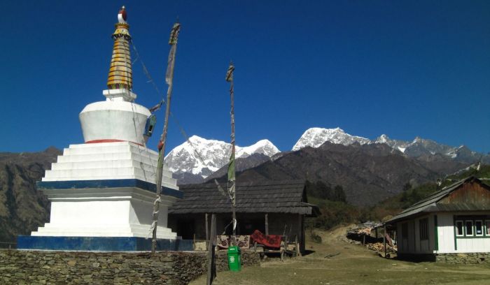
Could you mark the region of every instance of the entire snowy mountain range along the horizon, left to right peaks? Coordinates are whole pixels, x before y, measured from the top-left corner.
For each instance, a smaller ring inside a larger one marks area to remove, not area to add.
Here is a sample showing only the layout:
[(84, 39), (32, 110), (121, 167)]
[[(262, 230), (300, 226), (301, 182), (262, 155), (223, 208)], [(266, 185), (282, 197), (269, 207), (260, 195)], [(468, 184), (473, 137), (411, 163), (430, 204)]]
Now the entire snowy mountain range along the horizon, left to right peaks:
[[(381, 135), (375, 140), (363, 138), (360, 136), (351, 136), (340, 128), (307, 129), (299, 140), (293, 146), (293, 151), (304, 147), (320, 147), (325, 142), (331, 142), (338, 145), (371, 145), (384, 143), (393, 149), (393, 152), (401, 152), (403, 155), (413, 157), (419, 160), (436, 159), (437, 156), (449, 157), (458, 162), (475, 163), (479, 159), (484, 162), (490, 162), (490, 156), (482, 156), (477, 152), (461, 145), (460, 147), (451, 147), (442, 145), (433, 140), (426, 140), (416, 137), (412, 141), (393, 140), (386, 135)], [(204, 181), (207, 177), (215, 173), (228, 163), (230, 159), (231, 145), (221, 140), (207, 140), (199, 136), (192, 136), (172, 149), (165, 157), (165, 162), (174, 177), (179, 180), (180, 184), (197, 183)], [(259, 140), (248, 147), (237, 146), (237, 159), (246, 159), (249, 157), (251, 163), (241, 163), (241, 166), (255, 166), (256, 163), (263, 161), (264, 156), (279, 158), (279, 149), (269, 140)], [(254, 157), (251, 157), (254, 156)], [(262, 159), (260, 158), (262, 156)], [(265, 157), (267, 159), (267, 157)], [(254, 161), (254, 162), (252, 162)], [(223, 172), (223, 171), (221, 171)], [(220, 172), (220, 173), (221, 173)]]

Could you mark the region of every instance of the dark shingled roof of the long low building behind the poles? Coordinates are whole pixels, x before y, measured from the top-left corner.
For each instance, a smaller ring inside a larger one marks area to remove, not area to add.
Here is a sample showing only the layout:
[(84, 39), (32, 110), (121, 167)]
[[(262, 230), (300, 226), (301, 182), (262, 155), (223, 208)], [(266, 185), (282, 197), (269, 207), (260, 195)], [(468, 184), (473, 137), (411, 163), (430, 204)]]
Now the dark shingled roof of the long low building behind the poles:
[[(237, 213), (319, 214), (316, 205), (307, 203), (304, 180), (237, 183), (236, 187)], [(230, 200), (214, 183), (183, 185), (180, 190), (184, 197), (169, 207), (169, 214), (231, 212)]]

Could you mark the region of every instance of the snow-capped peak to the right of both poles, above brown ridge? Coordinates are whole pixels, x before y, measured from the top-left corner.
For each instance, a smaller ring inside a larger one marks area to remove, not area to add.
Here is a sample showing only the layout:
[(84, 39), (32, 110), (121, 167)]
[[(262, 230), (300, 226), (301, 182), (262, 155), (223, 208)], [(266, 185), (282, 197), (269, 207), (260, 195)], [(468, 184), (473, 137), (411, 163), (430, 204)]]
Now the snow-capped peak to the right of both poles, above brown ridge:
[(338, 127), (335, 129), (310, 128), (302, 134), (299, 140), (297, 140), (296, 144), (293, 146), (293, 151), (302, 149), (303, 147), (319, 147), (327, 141), (342, 145), (351, 145), (354, 142), (364, 145), (371, 142), (371, 140), (367, 138), (351, 136), (349, 133), (346, 133)]

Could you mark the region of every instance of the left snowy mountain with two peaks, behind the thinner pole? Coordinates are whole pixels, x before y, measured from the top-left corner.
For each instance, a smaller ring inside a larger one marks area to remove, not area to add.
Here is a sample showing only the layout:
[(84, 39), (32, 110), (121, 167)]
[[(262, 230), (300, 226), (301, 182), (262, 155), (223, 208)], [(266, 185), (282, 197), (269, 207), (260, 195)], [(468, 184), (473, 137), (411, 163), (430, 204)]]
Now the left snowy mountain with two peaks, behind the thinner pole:
[[(252, 154), (273, 156), (280, 152), (269, 140), (259, 140), (248, 147), (236, 147), (236, 157), (246, 158)], [(165, 163), (174, 177), (186, 173), (206, 178), (216, 170), (225, 166), (230, 159), (231, 144), (221, 140), (207, 140), (199, 136), (192, 136), (172, 149), (165, 156)]]

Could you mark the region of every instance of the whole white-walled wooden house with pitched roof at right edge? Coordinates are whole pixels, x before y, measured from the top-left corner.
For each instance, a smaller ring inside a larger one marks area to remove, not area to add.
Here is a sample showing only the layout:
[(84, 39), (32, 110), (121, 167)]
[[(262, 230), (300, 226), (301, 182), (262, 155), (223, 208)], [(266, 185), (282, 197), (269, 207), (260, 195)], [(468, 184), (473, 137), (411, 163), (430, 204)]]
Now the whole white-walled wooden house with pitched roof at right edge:
[(460, 180), (387, 221), (397, 232), (398, 256), (490, 252), (490, 187)]

